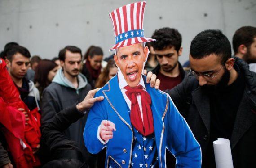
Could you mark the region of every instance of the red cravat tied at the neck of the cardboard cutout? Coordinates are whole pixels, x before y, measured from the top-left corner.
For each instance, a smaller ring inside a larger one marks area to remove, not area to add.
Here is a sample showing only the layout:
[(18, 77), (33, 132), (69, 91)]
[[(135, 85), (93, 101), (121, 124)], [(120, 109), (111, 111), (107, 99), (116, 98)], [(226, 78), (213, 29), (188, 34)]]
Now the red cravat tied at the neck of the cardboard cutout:
[[(150, 108), (151, 105), (151, 97), (143, 90), (141, 85), (131, 88), (129, 86), (124, 87), (127, 91), (125, 94), (132, 102), (131, 106), (131, 122), (132, 126), (134, 126), (142, 135), (147, 136), (154, 132), (154, 122), (153, 115)], [(141, 95), (141, 107), (143, 113), (143, 122), (141, 119), (140, 107), (137, 101), (137, 95)]]

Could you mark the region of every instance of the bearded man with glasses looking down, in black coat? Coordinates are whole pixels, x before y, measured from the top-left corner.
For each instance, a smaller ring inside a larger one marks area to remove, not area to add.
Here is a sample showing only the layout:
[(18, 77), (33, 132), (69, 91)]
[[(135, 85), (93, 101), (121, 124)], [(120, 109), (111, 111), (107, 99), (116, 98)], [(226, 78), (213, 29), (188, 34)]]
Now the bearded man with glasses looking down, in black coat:
[(256, 73), (231, 58), (220, 30), (192, 40), (190, 74), (170, 94), (202, 148), (202, 168), (215, 167), (213, 141), (230, 140), (235, 168), (256, 165)]

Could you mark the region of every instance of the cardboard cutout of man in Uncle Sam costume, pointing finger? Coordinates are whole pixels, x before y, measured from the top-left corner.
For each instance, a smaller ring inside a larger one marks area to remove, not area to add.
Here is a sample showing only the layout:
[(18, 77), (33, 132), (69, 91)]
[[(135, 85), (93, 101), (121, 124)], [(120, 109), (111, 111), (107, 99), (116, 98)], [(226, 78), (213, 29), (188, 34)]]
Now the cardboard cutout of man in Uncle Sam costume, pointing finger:
[(105, 98), (90, 109), (85, 145), (93, 154), (106, 147), (106, 168), (165, 168), (166, 149), (177, 167), (200, 167), (200, 146), (184, 118), (171, 98), (142, 76), (149, 53), (144, 44), (154, 40), (144, 37), (145, 5), (128, 4), (110, 13), (115, 30), (110, 50), (119, 71), (95, 95)]

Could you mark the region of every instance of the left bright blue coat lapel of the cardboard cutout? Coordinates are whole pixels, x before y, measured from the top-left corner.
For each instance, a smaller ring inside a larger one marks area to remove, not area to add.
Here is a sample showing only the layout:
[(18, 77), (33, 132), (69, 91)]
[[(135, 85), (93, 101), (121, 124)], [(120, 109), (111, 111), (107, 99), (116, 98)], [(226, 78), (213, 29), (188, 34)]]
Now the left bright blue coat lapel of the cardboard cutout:
[(119, 118), (131, 127), (130, 113), (127, 111), (126, 101), (119, 89), (117, 75), (109, 81), (109, 89), (102, 92)]

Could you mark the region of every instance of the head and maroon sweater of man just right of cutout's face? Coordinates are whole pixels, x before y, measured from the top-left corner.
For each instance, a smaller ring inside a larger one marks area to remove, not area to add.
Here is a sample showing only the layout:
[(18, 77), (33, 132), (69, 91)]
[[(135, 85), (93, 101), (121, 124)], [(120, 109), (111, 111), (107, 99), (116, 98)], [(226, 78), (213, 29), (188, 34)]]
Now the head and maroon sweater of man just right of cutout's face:
[(161, 90), (172, 89), (180, 84), (185, 77), (185, 71), (178, 62), (182, 54), (181, 34), (177, 29), (164, 27), (154, 31), (152, 42), (158, 66), (152, 70), (161, 80)]

